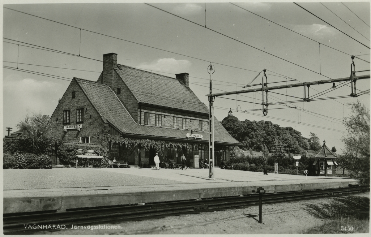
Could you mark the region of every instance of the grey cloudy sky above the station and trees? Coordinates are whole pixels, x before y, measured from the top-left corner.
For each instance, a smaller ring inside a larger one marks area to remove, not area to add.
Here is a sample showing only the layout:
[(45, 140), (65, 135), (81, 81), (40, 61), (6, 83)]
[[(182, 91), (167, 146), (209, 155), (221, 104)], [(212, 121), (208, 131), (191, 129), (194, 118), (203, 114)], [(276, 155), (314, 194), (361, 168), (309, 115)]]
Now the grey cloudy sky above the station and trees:
[[(261, 83), (263, 69), (269, 86), (349, 77), (351, 55), (357, 56), (356, 71), (370, 70), (369, 2), (298, 5), (4, 4), (3, 136), (6, 127), (17, 131), (27, 113), (51, 116), (73, 77), (96, 81), (105, 53), (117, 53), (119, 64), (174, 78), (189, 73), (190, 88), (206, 105), (210, 63), (215, 68), (214, 93), (261, 88), (243, 87)], [(366, 74), (370, 71), (356, 75)], [(271, 104), (269, 109), (277, 109), (268, 110), (267, 116), (259, 110), (262, 92), (217, 97), (214, 113), (221, 121), (232, 109), (241, 121), (272, 121), (307, 138), (313, 132), (342, 153), (341, 138), (348, 134), (342, 120), (351, 112), (348, 103), (359, 100), (370, 107), (370, 93), (329, 99), (350, 95), (346, 83), (336, 82), (336, 89), (332, 84), (312, 85), (309, 95), (319, 93), (316, 99), (326, 100)], [(369, 90), (370, 79), (356, 85), (358, 92)], [(323, 91), (327, 93), (321, 95)], [(268, 103), (304, 97), (303, 87), (273, 92)]]

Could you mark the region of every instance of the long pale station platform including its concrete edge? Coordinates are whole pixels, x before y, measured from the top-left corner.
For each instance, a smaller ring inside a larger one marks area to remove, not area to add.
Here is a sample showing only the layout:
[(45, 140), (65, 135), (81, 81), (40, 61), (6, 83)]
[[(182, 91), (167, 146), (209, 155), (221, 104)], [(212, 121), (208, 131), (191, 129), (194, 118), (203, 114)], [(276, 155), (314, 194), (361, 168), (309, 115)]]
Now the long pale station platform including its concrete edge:
[[(19, 178), (14, 179), (13, 176)], [(81, 180), (84, 177), (86, 180)], [(349, 178), (279, 173), (263, 175), (262, 172), (219, 168), (214, 171), (214, 178), (208, 178), (208, 169), (4, 170), (3, 213), (60, 212), (77, 208), (249, 195), (260, 186), (266, 193), (275, 193), (341, 188), (358, 183)]]

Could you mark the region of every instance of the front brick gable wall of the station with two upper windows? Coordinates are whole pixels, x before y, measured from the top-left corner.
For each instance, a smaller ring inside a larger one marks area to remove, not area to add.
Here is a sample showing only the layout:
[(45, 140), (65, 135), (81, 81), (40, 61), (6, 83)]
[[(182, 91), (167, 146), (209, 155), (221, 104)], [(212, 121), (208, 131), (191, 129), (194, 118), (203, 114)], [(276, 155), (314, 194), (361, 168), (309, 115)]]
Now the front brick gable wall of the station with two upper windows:
[[(75, 98), (72, 98), (72, 91), (75, 91)], [(83, 108), (83, 123), (76, 123), (76, 109), (78, 108)], [(69, 124), (63, 124), (64, 110), (70, 110)], [(56, 119), (58, 122), (55, 122)], [(53, 121), (50, 127), (52, 134), (63, 138), (66, 142), (80, 142), (80, 137), (84, 136), (90, 137), (90, 143), (102, 142), (101, 137), (98, 139), (98, 135), (104, 129), (104, 123), (75, 80), (67, 88), (52, 117), (50, 117), (50, 121)], [(69, 129), (64, 132), (65, 125), (76, 124), (82, 124), (81, 131)]]

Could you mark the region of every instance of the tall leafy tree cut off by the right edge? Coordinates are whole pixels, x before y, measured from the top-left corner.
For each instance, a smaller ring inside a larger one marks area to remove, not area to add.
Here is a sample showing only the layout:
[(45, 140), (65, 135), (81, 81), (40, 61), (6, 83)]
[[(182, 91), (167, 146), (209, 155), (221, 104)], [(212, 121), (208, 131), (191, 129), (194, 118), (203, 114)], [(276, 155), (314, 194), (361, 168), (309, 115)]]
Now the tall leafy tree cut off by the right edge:
[(349, 134), (342, 137), (344, 167), (359, 184), (370, 185), (370, 110), (359, 101), (348, 103), (352, 114), (345, 118), (344, 125)]

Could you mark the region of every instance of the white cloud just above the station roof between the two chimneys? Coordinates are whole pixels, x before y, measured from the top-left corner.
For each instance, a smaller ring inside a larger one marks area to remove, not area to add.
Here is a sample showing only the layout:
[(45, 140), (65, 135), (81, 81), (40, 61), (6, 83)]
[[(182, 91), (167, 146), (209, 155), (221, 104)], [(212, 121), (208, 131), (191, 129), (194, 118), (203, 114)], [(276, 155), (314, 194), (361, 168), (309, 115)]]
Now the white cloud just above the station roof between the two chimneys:
[(190, 66), (191, 62), (185, 59), (176, 60), (174, 58), (160, 58), (152, 61), (151, 63), (139, 64), (137, 67), (159, 72), (178, 73), (180, 71), (186, 71), (188, 68), (190, 68)]

